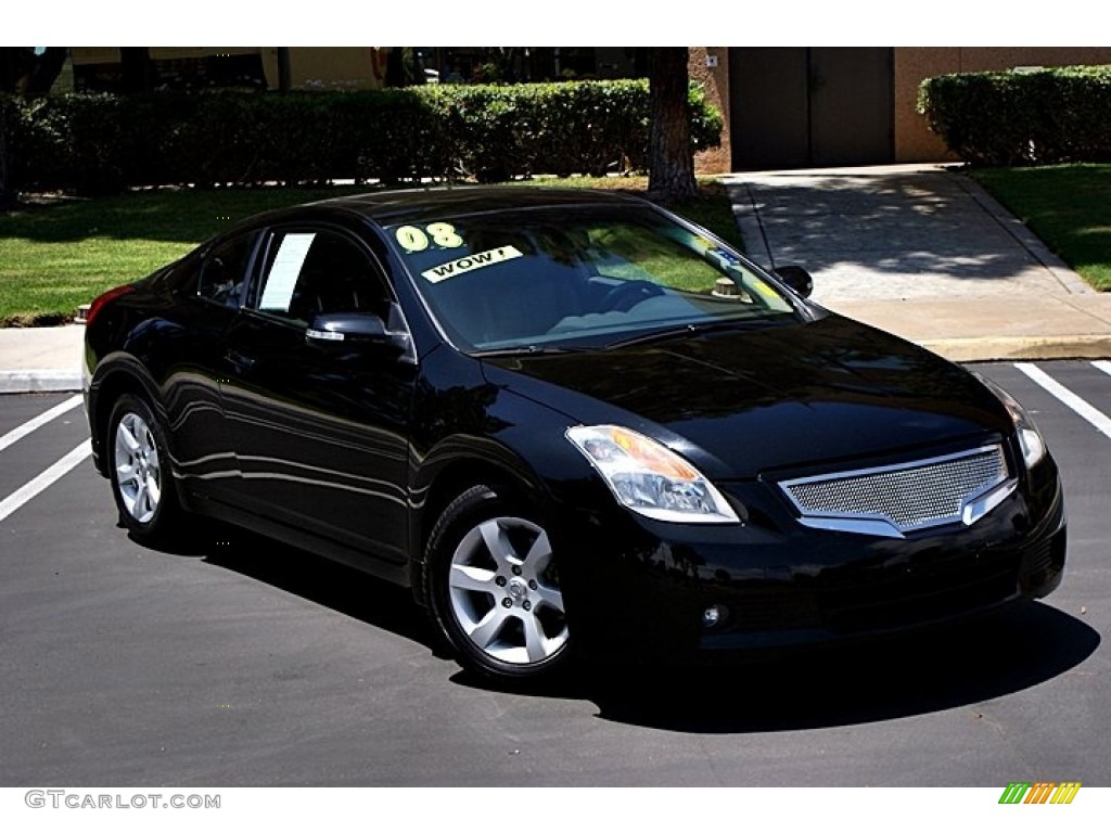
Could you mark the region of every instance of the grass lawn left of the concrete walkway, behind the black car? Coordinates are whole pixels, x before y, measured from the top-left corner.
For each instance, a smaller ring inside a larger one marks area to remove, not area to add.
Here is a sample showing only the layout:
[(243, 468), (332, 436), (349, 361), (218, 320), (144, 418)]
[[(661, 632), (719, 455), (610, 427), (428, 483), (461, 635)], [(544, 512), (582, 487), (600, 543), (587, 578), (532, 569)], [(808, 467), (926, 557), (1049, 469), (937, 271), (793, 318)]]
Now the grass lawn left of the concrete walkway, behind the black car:
[[(534, 180), (528, 184), (618, 188), (643, 194), (645, 177)], [(36, 199), (0, 213), (0, 325), (68, 321), (79, 304), (152, 272), (233, 222), (269, 209), (357, 193), (366, 187), (137, 191), (118, 197)], [(724, 187), (672, 207), (740, 247)]]

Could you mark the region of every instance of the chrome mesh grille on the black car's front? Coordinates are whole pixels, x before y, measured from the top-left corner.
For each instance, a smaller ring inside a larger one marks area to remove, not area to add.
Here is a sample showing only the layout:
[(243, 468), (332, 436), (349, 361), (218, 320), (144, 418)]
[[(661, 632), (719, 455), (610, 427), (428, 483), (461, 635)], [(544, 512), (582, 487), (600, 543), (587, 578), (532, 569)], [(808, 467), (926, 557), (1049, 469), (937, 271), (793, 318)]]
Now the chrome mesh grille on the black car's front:
[(1004, 482), (1000, 445), (903, 465), (839, 472), (780, 485), (803, 518), (880, 519), (900, 532), (961, 519), (964, 506)]

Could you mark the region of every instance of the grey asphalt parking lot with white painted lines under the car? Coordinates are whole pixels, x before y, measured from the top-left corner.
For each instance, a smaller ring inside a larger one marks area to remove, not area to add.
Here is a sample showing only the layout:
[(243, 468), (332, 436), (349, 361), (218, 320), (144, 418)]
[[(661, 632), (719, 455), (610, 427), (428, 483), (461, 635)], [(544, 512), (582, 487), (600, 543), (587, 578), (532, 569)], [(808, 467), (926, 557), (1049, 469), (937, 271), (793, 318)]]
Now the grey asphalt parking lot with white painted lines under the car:
[(556, 690), (459, 671), (407, 591), (217, 525), (117, 526), (80, 398), (0, 397), (0, 785), (1111, 785), (1111, 363), (974, 365), (1061, 466), (1064, 582), (959, 633)]

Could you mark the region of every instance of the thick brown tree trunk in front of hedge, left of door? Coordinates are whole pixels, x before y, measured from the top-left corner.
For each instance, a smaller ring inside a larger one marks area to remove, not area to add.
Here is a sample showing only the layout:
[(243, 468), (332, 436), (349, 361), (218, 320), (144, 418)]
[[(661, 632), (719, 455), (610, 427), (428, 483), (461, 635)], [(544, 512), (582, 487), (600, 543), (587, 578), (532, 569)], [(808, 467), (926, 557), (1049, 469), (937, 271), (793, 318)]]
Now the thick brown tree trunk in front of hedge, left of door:
[(690, 200), (698, 193), (690, 139), (687, 51), (687, 47), (649, 50), (648, 197), (660, 202)]

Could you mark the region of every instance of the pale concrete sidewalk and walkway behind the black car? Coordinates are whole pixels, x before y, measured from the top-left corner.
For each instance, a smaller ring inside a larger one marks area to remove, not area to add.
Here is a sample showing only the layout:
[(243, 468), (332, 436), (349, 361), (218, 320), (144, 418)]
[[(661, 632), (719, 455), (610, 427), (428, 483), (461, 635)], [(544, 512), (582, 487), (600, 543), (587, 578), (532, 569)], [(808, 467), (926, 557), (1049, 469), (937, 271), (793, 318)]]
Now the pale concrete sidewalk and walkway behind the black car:
[[(814, 300), (831, 310), (954, 361), (1111, 357), (1111, 293), (1089, 288), (957, 168), (723, 181), (749, 254), (809, 269)], [(0, 329), (0, 393), (78, 390), (82, 333)]]

